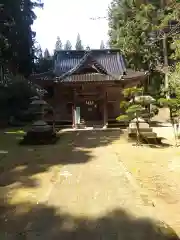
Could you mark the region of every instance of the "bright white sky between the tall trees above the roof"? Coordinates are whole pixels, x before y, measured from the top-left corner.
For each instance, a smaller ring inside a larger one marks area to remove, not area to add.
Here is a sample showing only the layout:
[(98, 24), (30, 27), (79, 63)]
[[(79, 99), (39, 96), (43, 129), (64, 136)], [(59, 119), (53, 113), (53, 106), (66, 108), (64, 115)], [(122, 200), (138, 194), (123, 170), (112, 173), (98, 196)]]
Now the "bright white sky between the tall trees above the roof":
[(44, 9), (36, 9), (37, 20), (33, 25), (36, 39), (42, 49), (53, 51), (56, 38), (63, 43), (70, 40), (75, 45), (77, 33), (83, 44), (99, 48), (101, 40), (108, 41), (106, 19), (90, 20), (91, 17), (107, 16), (110, 0), (44, 0)]

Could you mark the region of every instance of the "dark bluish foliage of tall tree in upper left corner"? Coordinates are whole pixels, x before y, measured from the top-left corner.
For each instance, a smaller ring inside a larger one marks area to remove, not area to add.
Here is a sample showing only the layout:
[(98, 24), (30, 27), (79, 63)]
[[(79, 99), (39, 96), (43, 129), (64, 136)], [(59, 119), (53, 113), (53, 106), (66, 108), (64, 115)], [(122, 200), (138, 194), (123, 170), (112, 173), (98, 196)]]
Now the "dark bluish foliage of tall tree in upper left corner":
[(31, 25), (36, 19), (35, 7), (40, 0), (1, 0), (0, 8), (0, 60), (15, 74), (29, 75), (33, 68), (35, 32)]

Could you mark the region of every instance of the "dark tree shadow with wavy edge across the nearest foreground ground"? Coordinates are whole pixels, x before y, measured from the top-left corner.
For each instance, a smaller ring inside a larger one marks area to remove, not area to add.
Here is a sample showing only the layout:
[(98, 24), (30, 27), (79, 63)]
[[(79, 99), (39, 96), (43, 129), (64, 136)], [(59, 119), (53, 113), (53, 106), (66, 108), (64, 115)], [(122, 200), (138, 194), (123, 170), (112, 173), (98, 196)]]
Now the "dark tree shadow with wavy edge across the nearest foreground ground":
[[(16, 206), (16, 211), (18, 210)], [(99, 218), (75, 217), (46, 205), (31, 206), (28, 213), (4, 216), (0, 224), (2, 240), (177, 240), (167, 225), (151, 219), (135, 218), (115, 209)], [(8, 212), (7, 209), (5, 212)]]

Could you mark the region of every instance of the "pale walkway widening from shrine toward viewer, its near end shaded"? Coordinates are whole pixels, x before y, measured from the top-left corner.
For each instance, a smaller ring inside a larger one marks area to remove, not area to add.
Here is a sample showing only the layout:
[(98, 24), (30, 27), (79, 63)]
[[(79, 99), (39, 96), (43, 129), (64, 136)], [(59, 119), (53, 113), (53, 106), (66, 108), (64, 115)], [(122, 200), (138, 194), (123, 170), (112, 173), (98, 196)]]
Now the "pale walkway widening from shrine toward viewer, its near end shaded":
[(144, 202), (110, 145), (77, 149), (85, 150), (89, 161), (61, 169), (44, 203), (46, 213), (29, 221), (26, 239), (175, 239), (156, 227), (153, 206)]

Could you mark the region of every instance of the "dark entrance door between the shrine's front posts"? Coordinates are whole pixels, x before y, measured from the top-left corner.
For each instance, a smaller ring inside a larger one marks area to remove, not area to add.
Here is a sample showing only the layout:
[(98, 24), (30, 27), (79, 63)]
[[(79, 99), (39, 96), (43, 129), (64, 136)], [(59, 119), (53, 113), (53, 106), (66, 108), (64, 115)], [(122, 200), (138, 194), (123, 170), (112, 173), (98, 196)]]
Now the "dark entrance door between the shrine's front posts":
[(101, 114), (98, 101), (87, 100), (81, 105), (81, 119), (85, 122), (100, 121)]

